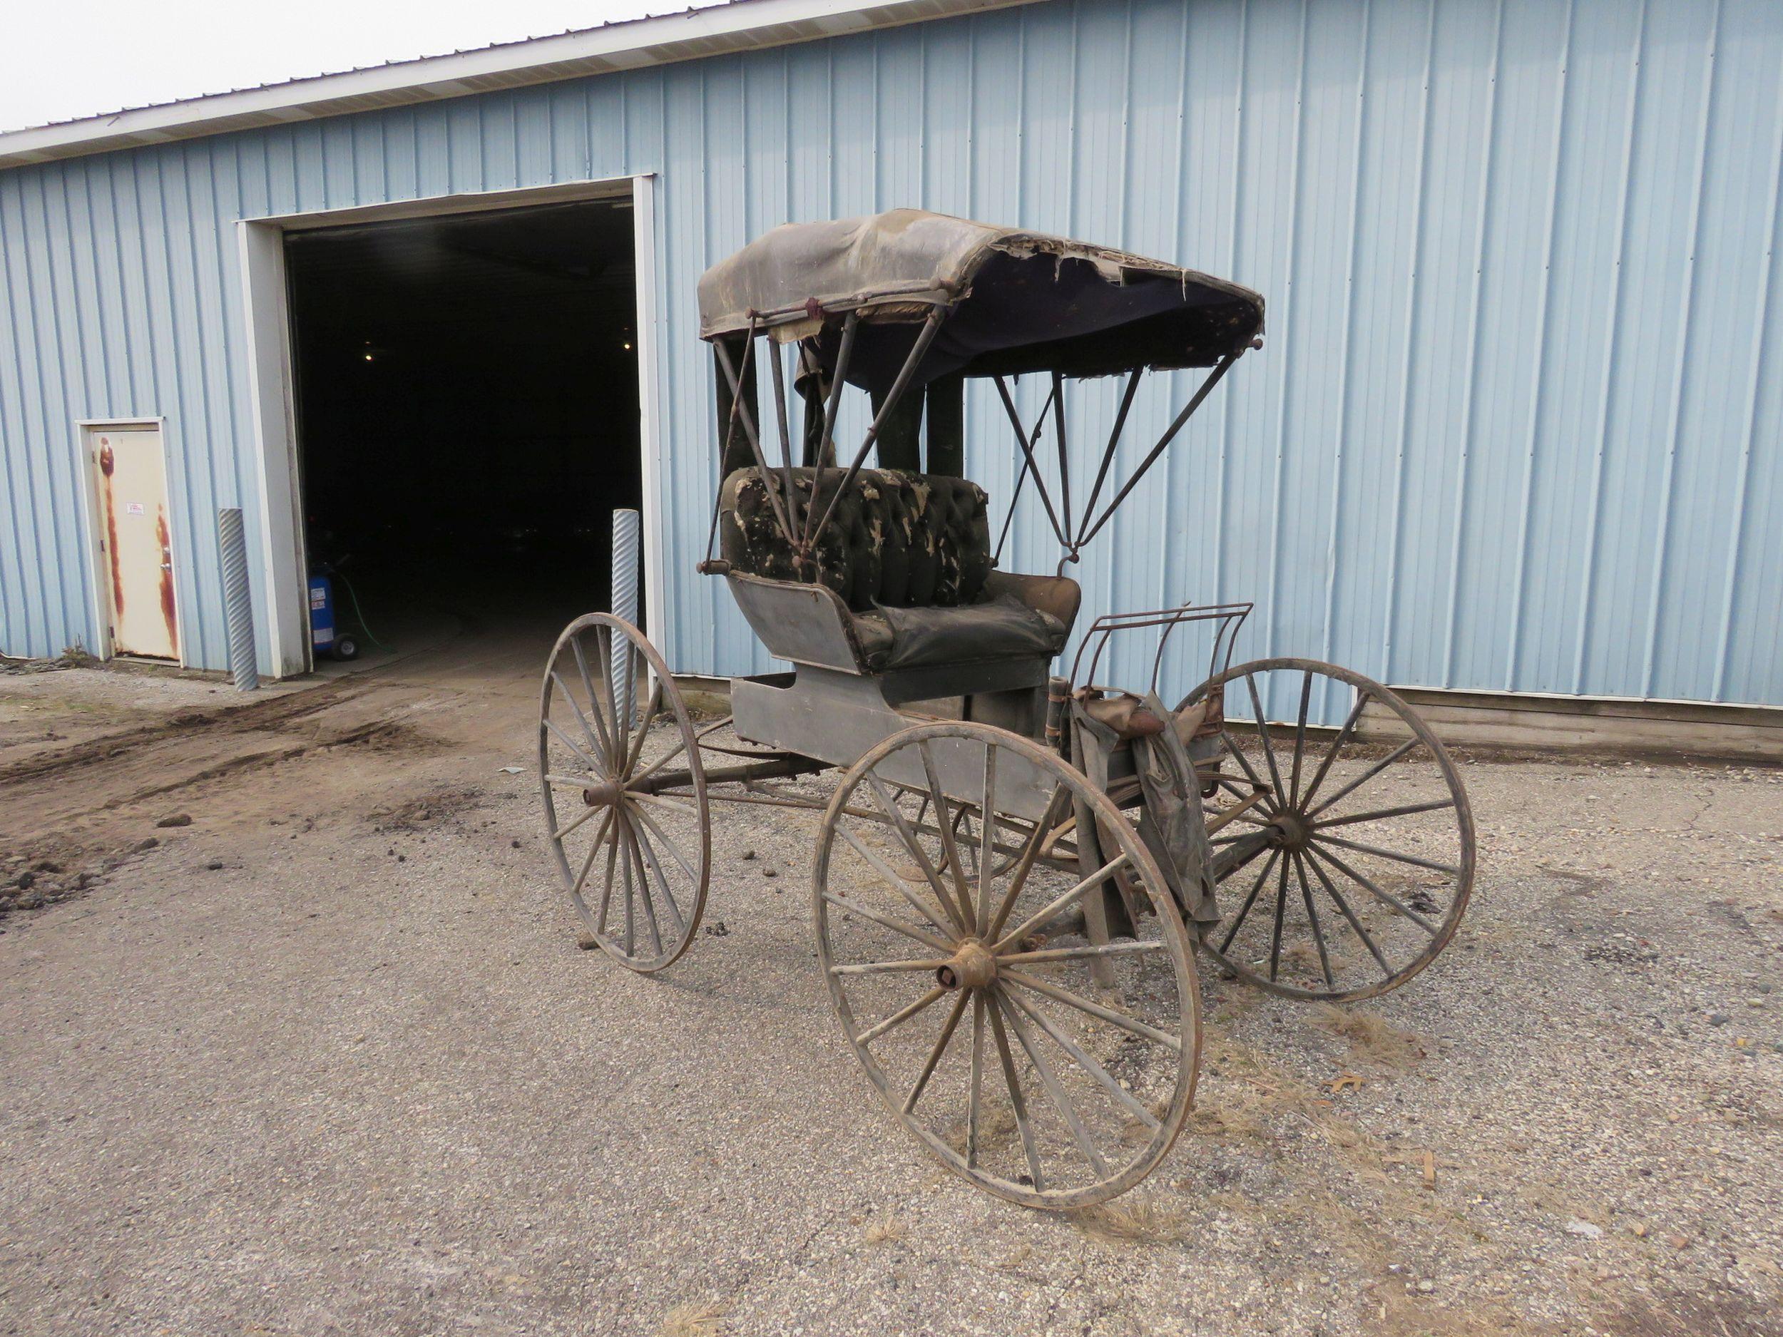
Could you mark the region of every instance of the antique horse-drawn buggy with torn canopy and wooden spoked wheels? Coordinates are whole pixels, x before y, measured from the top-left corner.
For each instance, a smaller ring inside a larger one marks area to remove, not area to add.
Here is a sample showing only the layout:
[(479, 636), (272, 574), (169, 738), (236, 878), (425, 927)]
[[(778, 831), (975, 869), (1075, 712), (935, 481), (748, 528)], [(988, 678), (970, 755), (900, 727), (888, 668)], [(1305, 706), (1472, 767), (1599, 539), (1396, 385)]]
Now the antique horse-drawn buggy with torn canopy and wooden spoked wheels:
[[(1079, 620), (1064, 567), (1261, 346), (1255, 292), (895, 210), (776, 228), (710, 269), (699, 303), (722, 437), (701, 570), (793, 668), (735, 679), (731, 717), (695, 722), (635, 626), (590, 613), (563, 631), (540, 792), (608, 956), (654, 972), (692, 943), (715, 802), (815, 813), (817, 957), (893, 1118), (990, 1193), (1079, 1207), (1145, 1178), (1187, 1118), (1196, 950), (1337, 1002), (1442, 950), (1473, 824), (1391, 690), (1311, 660), (1232, 665), (1248, 603), (1098, 617), (1054, 670)], [(1198, 389), (1116, 469), (1141, 378), (1189, 367), (1207, 371)], [(1039, 378), (1029, 415), (1020, 376)], [(997, 563), (988, 497), (963, 478), (972, 378), (1009, 419), (1015, 494), (1034, 488), (1057, 574)], [(1091, 378), (1116, 378), (1100, 390), (1114, 412), (1073, 506), (1066, 390)], [(870, 398), (870, 428), (838, 456), (847, 387)], [(1100, 685), (1111, 644), (1146, 636), (1145, 690)], [(1187, 642), (1205, 681), (1166, 704)], [(811, 777), (834, 768), (826, 802)]]

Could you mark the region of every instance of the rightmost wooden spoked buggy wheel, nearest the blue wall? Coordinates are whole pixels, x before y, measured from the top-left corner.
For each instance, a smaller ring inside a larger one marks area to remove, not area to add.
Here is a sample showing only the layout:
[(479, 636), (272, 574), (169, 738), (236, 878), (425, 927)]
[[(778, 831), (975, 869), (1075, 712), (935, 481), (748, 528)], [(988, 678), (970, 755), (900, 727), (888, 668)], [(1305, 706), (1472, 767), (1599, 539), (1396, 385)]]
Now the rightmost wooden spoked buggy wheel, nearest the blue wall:
[(1442, 743), (1389, 688), (1330, 663), (1245, 663), (1182, 710), (1214, 688), (1225, 718), (1211, 711), (1205, 811), (1223, 916), (1202, 950), (1294, 998), (1405, 984), (1448, 947), (1473, 890), (1473, 813)]

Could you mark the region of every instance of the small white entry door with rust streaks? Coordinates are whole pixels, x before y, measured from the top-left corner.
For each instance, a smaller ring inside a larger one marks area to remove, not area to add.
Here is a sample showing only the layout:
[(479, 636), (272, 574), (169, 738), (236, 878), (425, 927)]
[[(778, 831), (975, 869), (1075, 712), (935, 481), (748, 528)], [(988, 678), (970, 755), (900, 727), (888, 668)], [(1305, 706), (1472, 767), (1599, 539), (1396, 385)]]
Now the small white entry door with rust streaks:
[(160, 428), (87, 428), (112, 654), (180, 658)]

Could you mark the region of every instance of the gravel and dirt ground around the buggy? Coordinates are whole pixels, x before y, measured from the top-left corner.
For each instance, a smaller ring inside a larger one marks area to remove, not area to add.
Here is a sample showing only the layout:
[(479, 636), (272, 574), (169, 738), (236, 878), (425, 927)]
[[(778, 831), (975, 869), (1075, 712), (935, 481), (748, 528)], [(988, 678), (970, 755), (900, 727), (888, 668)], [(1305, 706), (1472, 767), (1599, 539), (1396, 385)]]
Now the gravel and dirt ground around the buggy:
[(1444, 957), (1344, 1013), (1204, 972), (1189, 1132), (1068, 1219), (874, 1103), (801, 818), (724, 813), (631, 975), (501, 770), (530, 676), (403, 668), (248, 768), (0, 788), (0, 879), (111, 850), (0, 920), (0, 1332), (1783, 1333), (1776, 772), (1466, 765)]

